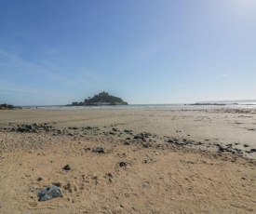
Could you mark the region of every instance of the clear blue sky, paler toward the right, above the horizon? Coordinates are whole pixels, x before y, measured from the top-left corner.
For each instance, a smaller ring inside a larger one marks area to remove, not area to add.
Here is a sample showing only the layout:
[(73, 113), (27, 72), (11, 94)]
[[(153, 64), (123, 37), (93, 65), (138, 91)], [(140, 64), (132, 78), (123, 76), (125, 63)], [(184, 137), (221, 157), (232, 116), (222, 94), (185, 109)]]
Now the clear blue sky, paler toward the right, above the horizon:
[(0, 103), (256, 99), (255, 0), (0, 0)]

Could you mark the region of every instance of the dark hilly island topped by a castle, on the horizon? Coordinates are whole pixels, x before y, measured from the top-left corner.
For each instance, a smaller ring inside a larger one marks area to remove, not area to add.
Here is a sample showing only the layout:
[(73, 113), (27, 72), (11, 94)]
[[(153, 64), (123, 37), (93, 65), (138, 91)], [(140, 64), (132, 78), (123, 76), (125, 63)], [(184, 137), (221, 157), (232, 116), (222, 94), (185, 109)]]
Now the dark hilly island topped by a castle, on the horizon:
[(74, 101), (72, 104), (67, 104), (67, 106), (97, 106), (97, 105), (128, 105), (128, 102), (117, 98), (115, 96), (109, 95), (108, 92), (101, 92), (94, 97), (85, 99), (84, 101)]

